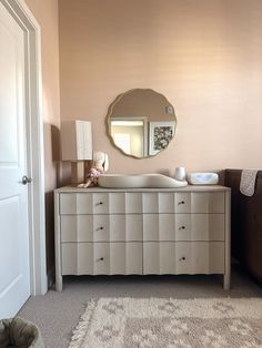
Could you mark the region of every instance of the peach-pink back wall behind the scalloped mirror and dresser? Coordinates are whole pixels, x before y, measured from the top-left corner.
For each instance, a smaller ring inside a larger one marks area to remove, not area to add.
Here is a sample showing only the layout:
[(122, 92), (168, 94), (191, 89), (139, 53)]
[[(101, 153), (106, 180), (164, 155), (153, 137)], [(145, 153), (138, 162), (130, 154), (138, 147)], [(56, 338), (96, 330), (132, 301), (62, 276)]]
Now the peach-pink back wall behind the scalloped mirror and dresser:
[[(261, 0), (60, 0), (61, 120), (92, 121), (110, 172), (262, 165)], [(105, 133), (108, 106), (133, 88), (174, 105), (175, 140), (134, 160)], [(69, 171), (64, 168), (64, 181)]]

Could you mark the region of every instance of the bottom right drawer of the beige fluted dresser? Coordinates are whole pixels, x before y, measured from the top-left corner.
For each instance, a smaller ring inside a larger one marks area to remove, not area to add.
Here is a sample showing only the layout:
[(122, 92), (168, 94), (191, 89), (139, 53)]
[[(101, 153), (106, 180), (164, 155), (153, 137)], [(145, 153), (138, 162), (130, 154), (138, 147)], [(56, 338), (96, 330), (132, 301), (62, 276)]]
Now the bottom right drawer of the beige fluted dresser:
[(222, 242), (145, 242), (144, 274), (224, 274)]

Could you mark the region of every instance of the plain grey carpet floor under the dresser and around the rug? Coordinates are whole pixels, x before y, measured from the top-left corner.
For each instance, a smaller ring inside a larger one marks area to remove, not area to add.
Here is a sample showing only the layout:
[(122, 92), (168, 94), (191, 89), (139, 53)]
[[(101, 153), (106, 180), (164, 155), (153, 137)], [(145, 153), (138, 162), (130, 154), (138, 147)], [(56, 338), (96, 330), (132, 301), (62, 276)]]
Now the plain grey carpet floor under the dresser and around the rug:
[[(31, 297), (19, 316), (33, 321), (41, 330), (47, 348), (66, 348), (71, 331), (91, 298), (99, 297), (262, 297), (262, 287), (236, 265), (232, 289), (224, 291), (218, 276), (81, 276), (64, 277), (63, 291), (49, 290)], [(91, 348), (91, 347), (90, 347)]]

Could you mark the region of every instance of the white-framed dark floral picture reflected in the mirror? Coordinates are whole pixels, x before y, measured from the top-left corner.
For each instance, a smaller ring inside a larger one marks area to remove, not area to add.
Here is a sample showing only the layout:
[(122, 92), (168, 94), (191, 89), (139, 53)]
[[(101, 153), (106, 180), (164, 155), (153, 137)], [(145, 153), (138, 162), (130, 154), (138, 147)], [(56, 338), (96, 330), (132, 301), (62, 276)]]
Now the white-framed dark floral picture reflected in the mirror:
[(165, 149), (174, 136), (174, 121), (149, 122), (149, 154), (155, 155)]

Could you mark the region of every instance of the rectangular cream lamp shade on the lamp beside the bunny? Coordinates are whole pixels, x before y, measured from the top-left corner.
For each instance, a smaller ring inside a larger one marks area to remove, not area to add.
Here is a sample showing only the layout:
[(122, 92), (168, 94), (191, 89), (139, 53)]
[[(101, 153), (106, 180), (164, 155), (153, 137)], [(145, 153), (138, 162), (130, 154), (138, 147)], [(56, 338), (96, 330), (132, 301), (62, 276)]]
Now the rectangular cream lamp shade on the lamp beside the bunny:
[(61, 123), (61, 150), (63, 161), (92, 160), (92, 129), (89, 121)]

